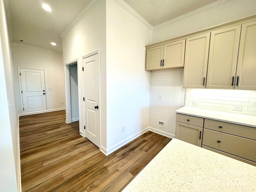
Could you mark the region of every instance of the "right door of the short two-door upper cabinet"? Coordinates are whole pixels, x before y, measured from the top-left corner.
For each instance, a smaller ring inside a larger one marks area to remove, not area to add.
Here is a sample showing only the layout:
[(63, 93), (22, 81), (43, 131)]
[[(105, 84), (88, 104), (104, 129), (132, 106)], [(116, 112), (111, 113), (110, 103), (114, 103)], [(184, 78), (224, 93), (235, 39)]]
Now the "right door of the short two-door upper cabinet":
[(164, 45), (163, 68), (175, 68), (184, 66), (185, 39)]

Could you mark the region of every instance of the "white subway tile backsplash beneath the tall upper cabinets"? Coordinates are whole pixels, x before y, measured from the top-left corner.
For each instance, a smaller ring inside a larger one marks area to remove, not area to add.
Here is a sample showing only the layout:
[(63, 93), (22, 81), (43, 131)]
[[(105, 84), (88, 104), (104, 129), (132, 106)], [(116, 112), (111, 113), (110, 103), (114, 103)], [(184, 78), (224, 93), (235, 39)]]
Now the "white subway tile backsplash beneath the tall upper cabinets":
[(256, 116), (256, 90), (186, 88), (185, 106)]

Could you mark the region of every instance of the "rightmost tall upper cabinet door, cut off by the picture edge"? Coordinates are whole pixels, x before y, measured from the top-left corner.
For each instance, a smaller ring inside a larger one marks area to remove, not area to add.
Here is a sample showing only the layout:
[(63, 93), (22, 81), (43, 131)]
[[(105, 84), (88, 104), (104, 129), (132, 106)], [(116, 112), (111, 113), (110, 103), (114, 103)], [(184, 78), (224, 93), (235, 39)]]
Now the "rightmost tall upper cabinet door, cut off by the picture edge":
[(256, 21), (242, 24), (235, 89), (256, 90)]

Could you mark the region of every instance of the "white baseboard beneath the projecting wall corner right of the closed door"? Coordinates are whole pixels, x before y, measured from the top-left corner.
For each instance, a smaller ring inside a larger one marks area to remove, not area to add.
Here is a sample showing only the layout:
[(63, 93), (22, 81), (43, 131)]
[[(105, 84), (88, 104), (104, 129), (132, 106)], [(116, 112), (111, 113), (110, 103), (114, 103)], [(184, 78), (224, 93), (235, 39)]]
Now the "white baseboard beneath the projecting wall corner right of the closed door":
[(147, 131), (148, 131), (148, 128), (149, 128), (149, 127), (145, 128), (144, 130), (141, 130), (140, 132), (138, 132), (138, 133), (136, 133), (136, 134), (134, 134), (134, 135), (132, 135), (132, 136), (126, 138), (125, 140), (119, 142), (118, 144), (115, 144), (114, 146), (112, 146), (112, 147), (110, 147), (110, 148), (108, 148), (108, 149), (106, 149), (106, 148), (100, 146), (100, 150), (101, 150), (101, 152), (104, 153), (105, 155), (109, 155), (110, 153), (114, 152), (115, 150), (118, 150), (120, 147), (124, 146), (124, 145), (127, 144), (128, 142), (134, 140), (134, 139), (137, 138), (138, 136), (140, 136), (140, 135), (144, 134), (145, 132), (147, 132)]

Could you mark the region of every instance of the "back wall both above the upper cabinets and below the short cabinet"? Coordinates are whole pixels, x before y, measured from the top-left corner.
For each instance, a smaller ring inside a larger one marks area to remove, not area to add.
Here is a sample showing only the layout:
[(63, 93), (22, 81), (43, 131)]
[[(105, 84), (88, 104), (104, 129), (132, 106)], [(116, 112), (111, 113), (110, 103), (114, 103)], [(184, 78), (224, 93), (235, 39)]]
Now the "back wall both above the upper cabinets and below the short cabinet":
[[(255, 14), (255, 0), (231, 0), (220, 6), (172, 22), (169, 25), (155, 28), (153, 30), (152, 43), (176, 38)], [(150, 127), (159, 130), (160, 133), (161, 131), (167, 132), (165, 135), (170, 137), (174, 137), (175, 133), (174, 111), (184, 106), (185, 94), (182, 89), (182, 78), (183, 69), (162, 70), (151, 73)], [(165, 86), (165, 82), (168, 82), (167, 86)], [(175, 84), (175, 86), (172, 86), (172, 84)], [(163, 101), (158, 99), (159, 95), (163, 95)], [(174, 100), (170, 96), (174, 97)], [(158, 120), (166, 120), (166, 128), (157, 127)]]

